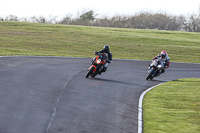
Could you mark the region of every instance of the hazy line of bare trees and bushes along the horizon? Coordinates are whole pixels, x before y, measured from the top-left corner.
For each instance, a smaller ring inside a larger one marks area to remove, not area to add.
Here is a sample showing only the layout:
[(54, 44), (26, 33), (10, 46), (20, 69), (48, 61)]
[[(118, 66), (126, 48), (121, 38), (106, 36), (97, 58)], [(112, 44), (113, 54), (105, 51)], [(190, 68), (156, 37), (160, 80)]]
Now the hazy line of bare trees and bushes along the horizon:
[(116, 15), (113, 17), (98, 18), (93, 10), (86, 11), (72, 17), (66, 15), (57, 20), (57, 17), (30, 17), (18, 18), (15, 15), (0, 17), (2, 21), (21, 21), (33, 23), (56, 23), (66, 25), (100, 26), (100, 27), (118, 27), (135, 29), (157, 29), (172, 31), (200, 32), (200, 13), (192, 14), (189, 17), (183, 15), (169, 15), (166, 13), (141, 12), (132, 16)]

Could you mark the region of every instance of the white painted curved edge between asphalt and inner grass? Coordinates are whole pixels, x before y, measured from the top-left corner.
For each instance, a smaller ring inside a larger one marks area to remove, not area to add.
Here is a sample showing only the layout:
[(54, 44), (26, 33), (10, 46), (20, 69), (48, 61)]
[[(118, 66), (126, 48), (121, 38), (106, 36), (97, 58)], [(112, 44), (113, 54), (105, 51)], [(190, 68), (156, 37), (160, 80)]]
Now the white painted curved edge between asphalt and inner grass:
[(143, 98), (144, 98), (144, 96), (145, 96), (145, 94), (148, 92), (148, 91), (150, 91), (150, 90), (152, 90), (153, 88), (155, 88), (155, 87), (157, 87), (157, 86), (159, 86), (159, 85), (161, 85), (161, 84), (163, 84), (163, 83), (160, 83), (160, 84), (158, 84), (158, 85), (155, 85), (155, 86), (153, 86), (153, 87), (151, 87), (151, 88), (149, 88), (149, 89), (147, 89), (146, 91), (144, 91), (141, 95), (140, 95), (140, 99), (139, 99), (139, 104), (138, 104), (138, 133), (142, 133), (142, 130), (143, 130), (143, 114), (142, 114), (142, 104), (143, 104)]

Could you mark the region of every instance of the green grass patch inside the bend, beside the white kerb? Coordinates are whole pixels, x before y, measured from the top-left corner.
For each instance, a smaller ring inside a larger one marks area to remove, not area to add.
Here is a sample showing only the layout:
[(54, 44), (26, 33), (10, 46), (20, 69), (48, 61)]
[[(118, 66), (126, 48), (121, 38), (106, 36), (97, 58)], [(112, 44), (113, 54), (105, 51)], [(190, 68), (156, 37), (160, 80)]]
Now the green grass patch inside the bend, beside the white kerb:
[(144, 97), (144, 133), (199, 133), (200, 79), (162, 84)]

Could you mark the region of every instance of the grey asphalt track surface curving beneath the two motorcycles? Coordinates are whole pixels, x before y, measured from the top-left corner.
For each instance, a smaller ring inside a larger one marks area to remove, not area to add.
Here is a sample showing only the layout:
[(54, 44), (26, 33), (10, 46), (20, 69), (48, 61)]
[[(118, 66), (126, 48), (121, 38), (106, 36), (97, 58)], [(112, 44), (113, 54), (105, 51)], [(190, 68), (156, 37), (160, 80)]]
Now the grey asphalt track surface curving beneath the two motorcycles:
[(1, 57), (0, 133), (137, 133), (143, 91), (200, 78), (200, 64), (171, 63), (146, 81), (150, 61), (114, 60), (106, 73), (86, 79), (90, 60)]

